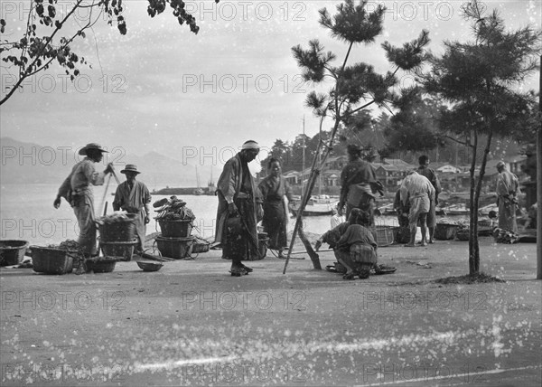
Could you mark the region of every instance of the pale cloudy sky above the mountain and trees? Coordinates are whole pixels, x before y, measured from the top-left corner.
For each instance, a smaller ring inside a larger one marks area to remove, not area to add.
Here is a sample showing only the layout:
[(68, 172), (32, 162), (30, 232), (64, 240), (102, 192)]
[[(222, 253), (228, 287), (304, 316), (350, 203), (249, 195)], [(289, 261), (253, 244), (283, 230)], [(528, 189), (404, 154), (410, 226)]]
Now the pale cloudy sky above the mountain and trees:
[[(29, 3), (2, 2), (3, 39), (21, 37)], [(177, 23), (169, 7), (151, 18), (146, 1), (125, 0), (127, 34), (105, 19), (95, 24), (86, 39), (72, 45), (91, 68), (79, 66), (75, 83), (58, 66), (25, 82), (23, 91), (0, 107), (1, 136), (53, 147), (98, 142), (122, 146), (126, 154), (154, 151), (192, 165), (219, 166), (244, 141), (254, 139), (265, 158), (277, 138), (292, 141), (303, 130), (311, 137), (318, 132), (318, 121), (304, 107), (314, 87), (301, 80), (291, 48), (319, 39), (341, 62), (346, 45), (318, 23), (319, 9), (334, 14), (339, 3), (187, 2), (201, 28), (196, 35)], [(70, 2), (59, 4), (65, 12)], [(369, 7), (378, 4), (388, 7), (384, 33), (374, 44), (356, 46), (350, 63), (366, 61), (377, 71), (388, 71), (380, 43), (400, 45), (422, 29), (430, 32), (433, 52), (442, 52), (446, 39), (469, 39), (462, 1), (369, 2)], [(498, 9), (510, 28), (540, 28), (539, 0), (484, 4)], [(79, 23), (86, 15), (77, 14)], [(14, 83), (12, 72), (2, 67), (3, 90)], [(538, 74), (524, 87), (538, 90)], [(324, 129), (331, 125), (326, 121)]]

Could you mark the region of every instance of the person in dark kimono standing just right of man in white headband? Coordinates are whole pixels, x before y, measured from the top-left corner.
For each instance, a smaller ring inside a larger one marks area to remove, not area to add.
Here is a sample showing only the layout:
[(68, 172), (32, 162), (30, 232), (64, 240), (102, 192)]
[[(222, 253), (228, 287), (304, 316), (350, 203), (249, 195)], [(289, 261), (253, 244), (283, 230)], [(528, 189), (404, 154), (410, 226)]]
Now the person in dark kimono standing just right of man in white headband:
[(269, 237), (269, 249), (278, 250), (278, 258), (284, 260), (283, 251), (288, 244), (286, 226), (289, 213), (289, 208), (285, 206), (285, 197), (288, 198), (289, 206), (292, 205), (294, 197), (290, 185), (281, 176), (280, 161), (271, 158), (267, 170), (269, 175), (258, 185), (264, 202), (262, 224)]

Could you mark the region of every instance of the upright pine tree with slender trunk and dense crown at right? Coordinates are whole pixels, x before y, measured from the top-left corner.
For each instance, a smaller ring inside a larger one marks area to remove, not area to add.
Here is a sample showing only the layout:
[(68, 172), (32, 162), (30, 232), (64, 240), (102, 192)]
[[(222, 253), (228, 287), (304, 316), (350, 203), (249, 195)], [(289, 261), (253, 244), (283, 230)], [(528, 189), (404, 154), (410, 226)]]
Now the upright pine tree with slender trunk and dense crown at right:
[[(530, 116), (533, 93), (518, 87), (538, 68), (541, 33), (530, 26), (510, 32), (497, 11), (484, 14), (476, 0), (463, 5), (463, 15), (471, 22), (473, 41), (444, 42), (444, 54), (430, 57), (431, 71), (420, 76), (425, 90), (452, 106), (443, 112), (441, 128), (466, 138), (464, 144), (472, 149), (469, 273), (475, 275), (480, 270), (478, 203), (491, 140), (518, 135)], [(486, 140), (476, 177), (483, 135)]]

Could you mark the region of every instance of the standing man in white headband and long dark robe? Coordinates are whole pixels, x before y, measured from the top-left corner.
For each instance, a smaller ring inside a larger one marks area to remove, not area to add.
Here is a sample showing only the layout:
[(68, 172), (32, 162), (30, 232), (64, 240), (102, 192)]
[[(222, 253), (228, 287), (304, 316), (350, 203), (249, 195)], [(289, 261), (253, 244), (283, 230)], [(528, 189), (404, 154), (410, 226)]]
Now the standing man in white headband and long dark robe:
[(262, 204), (248, 170), (248, 163), (258, 153), (257, 142), (246, 141), (238, 154), (226, 162), (217, 184), (219, 208), (215, 243), (222, 246), (222, 258), (231, 260), (230, 273), (234, 277), (252, 271), (242, 260), (261, 259), (256, 224), (262, 215)]

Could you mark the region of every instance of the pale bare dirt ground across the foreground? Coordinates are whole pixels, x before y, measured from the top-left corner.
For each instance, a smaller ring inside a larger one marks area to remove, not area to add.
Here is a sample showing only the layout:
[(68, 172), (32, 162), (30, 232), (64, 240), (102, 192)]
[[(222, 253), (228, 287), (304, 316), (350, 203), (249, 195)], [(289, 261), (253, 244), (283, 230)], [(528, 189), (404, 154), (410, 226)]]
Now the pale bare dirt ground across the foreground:
[[(324, 245), (325, 246), (325, 245)], [(0, 269), (2, 385), (539, 386), (536, 244), (481, 238), (504, 283), (440, 285), (468, 244), (379, 249), (397, 272), (343, 280), (269, 252), (230, 277), (220, 250), (144, 272)], [(320, 254), (322, 267), (332, 251)]]

